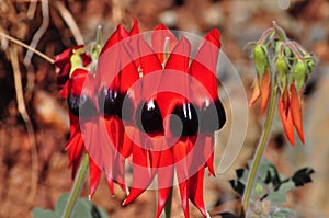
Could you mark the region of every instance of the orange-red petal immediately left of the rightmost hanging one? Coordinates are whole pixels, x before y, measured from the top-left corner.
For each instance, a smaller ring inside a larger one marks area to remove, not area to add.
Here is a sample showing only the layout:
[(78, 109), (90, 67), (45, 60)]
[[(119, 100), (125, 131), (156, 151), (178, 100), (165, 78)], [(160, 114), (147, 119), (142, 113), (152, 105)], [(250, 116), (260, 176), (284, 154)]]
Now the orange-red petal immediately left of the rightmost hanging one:
[(292, 146), (294, 146), (295, 139), (294, 139), (294, 123), (292, 118), (291, 111), (288, 110), (286, 113), (286, 110), (284, 108), (283, 100), (279, 100), (279, 110), (280, 110), (280, 116), (282, 121), (282, 125), (285, 131), (285, 135)]

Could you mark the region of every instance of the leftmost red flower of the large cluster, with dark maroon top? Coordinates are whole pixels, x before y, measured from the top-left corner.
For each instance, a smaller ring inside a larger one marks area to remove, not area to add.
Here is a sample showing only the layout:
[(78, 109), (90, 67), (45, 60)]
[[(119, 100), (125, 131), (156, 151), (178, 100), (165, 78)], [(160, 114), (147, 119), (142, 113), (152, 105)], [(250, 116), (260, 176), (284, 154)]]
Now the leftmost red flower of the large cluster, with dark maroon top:
[[(72, 179), (80, 164), (83, 152), (87, 152), (80, 129), (80, 117), (93, 119), (97, 116), (98, 107), (93, 101), (94, 90), (84, 89), (86, 78), (92, 73), (84, 69), (91, 64), (91, 56), (86, 54), (83, 46), (75, 46), (55, 57), (54, 65), (57, 71), (57, 82), (60, 95), (67, 100), (70, 119), (70, 139), (65, 146), (68, 150), (69, 165), (72, 167)], [(80, 60), (80, 61), (79, 61)], [(88, 85), (91, 87), (91, 85)], [(90, 196), (98, 185), (101, 170), (89, 157), (90, 167)]]

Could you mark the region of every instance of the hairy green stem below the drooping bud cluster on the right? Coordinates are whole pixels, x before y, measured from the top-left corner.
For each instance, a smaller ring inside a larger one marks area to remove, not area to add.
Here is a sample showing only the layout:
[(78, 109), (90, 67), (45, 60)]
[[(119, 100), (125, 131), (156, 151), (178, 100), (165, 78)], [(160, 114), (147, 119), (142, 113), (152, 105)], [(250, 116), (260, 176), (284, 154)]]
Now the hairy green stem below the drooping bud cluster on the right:
[(250, 172), (248, 175), (248, 180), (247, 180), (247, 186), (246, 186), (245, 194), (242, 197), (243, 214), (247, 211), (247, 207), (248, 207), (251, 190), (253, 187), (254, 179), (256, 179), (256, 175), (258, 172), (258, 168), (259, 168), (263, 151), (266, 147), (266, 142), (268, 142), (270, 133), (271, 133), (271, 126), (272, 126), (272, 122), (273, 122), (273, 117), (274, 117), (274, 113), (275, 113), (275, 108), (276, 108), (276, 102), (277, 102), (277, 88), (274, 88), (274, 89), (272, 89), (270, 108), (268, 111), (268, 116), (266, 116), (266, 121), (264, 124), (264, 130), (262, 133), (262, 136), (260, 138), (259, 145), (258, 145), (256, 153), (254, 153), (252, 165), (251, 165), (251, 169), (250, 169)]

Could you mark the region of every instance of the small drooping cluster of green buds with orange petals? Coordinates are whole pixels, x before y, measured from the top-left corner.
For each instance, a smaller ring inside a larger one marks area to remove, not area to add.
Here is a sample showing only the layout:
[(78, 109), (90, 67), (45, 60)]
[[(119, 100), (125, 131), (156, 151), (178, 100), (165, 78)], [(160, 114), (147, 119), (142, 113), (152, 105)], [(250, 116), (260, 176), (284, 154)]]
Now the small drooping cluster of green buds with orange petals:
[(257, 78), (252, 106), (261, 100), (261, 114), (268, 107), (271, 90), (280, 93), (279, 111), (287, 139), (294, 146), (294, 128), (303, 144), (303, 90), (307, 78), (314, 70), (315, 57), (302, 45), (290, 41), (275, 23), (256, 43), (253, 49)]

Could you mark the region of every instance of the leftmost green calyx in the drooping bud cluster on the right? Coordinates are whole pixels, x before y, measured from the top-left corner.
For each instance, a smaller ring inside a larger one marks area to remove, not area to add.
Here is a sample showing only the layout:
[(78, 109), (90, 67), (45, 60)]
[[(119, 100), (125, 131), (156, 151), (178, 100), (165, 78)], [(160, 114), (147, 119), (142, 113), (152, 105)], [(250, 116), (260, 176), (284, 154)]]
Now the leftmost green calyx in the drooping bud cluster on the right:
[(268, 51), (266, 51), (266, 48), (264, 45), (258, 44), (254, 46), (253, 58), (254, 58), (254, 62), (256, 62), (257, 72), (258, 72), (260, 79), (262, 79), (265, 68), (268, 68), (270, 66), (269, 59), (268, 59)]

